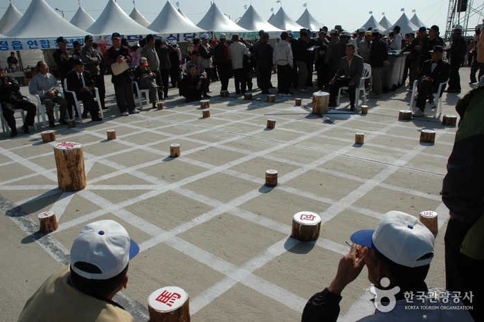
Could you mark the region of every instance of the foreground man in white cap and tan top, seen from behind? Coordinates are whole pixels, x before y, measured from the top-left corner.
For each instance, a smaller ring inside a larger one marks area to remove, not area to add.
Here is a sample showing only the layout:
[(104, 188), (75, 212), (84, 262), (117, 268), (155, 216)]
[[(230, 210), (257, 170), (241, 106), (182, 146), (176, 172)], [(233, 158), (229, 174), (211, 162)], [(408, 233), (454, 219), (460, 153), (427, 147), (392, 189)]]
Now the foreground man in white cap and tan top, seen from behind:
[(87, 224), (71, 247), (71, 262), (28, 299), (19, 322), (134, 321), (112, 298), (127, 287), (128, 262), (139, 251), (114, 220)]

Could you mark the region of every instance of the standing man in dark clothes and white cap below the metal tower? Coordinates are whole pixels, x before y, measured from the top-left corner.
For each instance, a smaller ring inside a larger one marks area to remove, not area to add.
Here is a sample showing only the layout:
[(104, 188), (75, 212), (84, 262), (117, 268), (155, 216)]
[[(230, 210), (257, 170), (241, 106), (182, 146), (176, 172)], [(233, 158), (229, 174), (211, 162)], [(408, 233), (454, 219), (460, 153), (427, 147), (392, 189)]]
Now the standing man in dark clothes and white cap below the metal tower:
[(454, 26), (454, 41), (452, 42), (450, 48), (446, 51), (450, 57), (450, 78), (449, 87), (447, 88), (447, 93), (460, 93), (460, 75), (459, 69), (460, 64), (464, 62), (464, 57), (467, 54), (467, 42), (464, 37), (462, 37), (463, 26)]

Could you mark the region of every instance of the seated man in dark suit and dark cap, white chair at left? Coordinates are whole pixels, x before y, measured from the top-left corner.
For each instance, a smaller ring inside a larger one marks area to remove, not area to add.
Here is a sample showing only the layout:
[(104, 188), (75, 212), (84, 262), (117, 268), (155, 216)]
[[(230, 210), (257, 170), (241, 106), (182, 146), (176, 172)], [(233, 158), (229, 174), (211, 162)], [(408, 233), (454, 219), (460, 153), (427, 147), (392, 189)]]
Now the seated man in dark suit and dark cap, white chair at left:
[(69, 91), (74, 91), (78, 100), (82, 100), (84, 104), (84, 111), (82, 112), (82, 117), (87, 118), (87, 112), (91, 114), (91, 120), (102, 120), (99, 116), (99, 108), (96, 105), (94, 97), (96, 96), (96, 91), (94, 87), (94, 80), (89, 71), (84, 71), (85, 62), (82, 60), (74, 60), (74, 70), (69, 71), (66, 75), (67, 89)]

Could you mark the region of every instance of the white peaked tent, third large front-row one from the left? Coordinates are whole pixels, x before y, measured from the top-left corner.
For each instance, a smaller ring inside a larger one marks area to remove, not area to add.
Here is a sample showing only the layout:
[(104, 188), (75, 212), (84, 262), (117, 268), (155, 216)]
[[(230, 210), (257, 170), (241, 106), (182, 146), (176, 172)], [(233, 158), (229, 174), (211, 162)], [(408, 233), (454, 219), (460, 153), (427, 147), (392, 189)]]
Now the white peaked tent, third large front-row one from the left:
[(148, 28), (156, 33), (198, 33), (204, 31), (195, 26), (192, 21), (183, 17), (170, 1), (166, 1), (158, 17), (153, 20)]

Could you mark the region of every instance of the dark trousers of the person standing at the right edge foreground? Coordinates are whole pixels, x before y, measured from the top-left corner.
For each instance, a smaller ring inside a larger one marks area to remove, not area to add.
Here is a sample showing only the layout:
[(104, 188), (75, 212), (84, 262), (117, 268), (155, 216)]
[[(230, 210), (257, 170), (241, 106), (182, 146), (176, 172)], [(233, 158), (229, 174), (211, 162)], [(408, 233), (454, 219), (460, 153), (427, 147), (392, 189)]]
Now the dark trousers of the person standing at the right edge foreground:
[[(474, 260), (460, 253), (467, 231), (472, 223), (459, 222), (451, 219), (445, 231), (445, 288), (451, 292), (460, 292), (460, 299), (464, 305), (472, 306), (469, 310), (474, 321), (484, 321), (484, 260)], [(472, 292), (472, 301), (464, 298), (467, 292)], [(450, 301), (450, 298), (449, 298)]]

